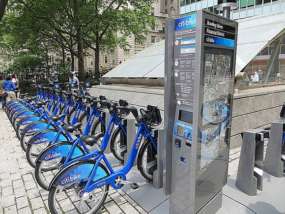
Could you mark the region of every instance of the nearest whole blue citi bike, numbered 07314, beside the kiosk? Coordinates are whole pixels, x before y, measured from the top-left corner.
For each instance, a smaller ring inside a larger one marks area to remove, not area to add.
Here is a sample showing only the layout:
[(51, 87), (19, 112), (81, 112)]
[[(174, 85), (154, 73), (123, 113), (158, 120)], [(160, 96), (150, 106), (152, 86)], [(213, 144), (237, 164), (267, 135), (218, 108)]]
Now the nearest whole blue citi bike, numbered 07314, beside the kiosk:
[[(96, 143), (103, 133), (82, 136), (82, 142), (97, 147), (97, 156), (94, 160), (82, 159), (73, 162), (57, 173), (49, 186), (49, 208), (52, 214), (96, 213), (105, 202), (110, 185), (119, 189), (124, 184), (131, 183), (126, 181), (126, 174), (133, 167), (141, 144), (138, 168), (143, 177), (149, 180), (153, 178), (153, 171), (157, 168), (157, 143), (151, 136), (151, 125), (161, 123), (159, 109), (148, 106), (146, 110), (141, 109), (142, 116), (138, 116), (137, 111), (127, 106), (116, 108), (130, 110), (138, 122), (138, 131), (126, 164), (117, 171), (113, 170), (104, 154), (106, 145), (103, 143), (99, 147)], [(142, 143), (143, 137), (146, 140)], [(131, 187), (137, 188), (138, 185), (132, 183)]]

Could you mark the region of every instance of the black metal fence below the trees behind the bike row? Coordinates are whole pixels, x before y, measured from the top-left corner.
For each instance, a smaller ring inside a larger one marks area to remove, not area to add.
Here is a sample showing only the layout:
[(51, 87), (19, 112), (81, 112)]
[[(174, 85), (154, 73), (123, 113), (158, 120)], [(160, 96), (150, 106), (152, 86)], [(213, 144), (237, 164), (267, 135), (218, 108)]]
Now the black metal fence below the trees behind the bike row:
[[(69, 82), (69, 74), (70, 72), (62, 73), (55, 72), (56, 77), (59, 83)], [(99, 85), (99, 75), (95, 74), (94, 71), (85, 71), (84, 74), (75, 74), (75, 76), (79, 79), (79, 82), (90, 82), (91, 85)], [(38, 73), (26, 73), (26, 74), (18, 74), (19, 80), (19, 89), (23, 92), (34, 93), (35, 89), (31, 87), (32, 84), (48, 84), (50, 74), (44, 72)]]

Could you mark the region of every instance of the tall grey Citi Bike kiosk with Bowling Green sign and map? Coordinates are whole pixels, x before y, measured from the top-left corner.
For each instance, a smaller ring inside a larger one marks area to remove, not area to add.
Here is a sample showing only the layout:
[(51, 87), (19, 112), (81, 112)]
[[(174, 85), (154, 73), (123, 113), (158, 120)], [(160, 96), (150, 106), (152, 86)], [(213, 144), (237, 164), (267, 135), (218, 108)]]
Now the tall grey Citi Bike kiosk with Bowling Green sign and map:
[[(237, 22), (199, 10), (168, 19), (165, 44), (165, 181), (170, 214), (222, 206)], [(171, 169), (171, 170), (168, 170)]]

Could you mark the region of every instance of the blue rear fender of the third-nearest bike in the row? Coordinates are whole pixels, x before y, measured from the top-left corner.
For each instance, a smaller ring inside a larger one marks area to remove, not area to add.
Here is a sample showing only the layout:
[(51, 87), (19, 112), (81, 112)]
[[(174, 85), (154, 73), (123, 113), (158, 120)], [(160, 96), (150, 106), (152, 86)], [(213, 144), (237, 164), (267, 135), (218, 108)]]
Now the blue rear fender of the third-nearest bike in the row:
[[(47, 142), (53, 142), (56, 135), (57, 130), (54, 129), (46, 129), (38, 132), (36, 136), (33, 136), (28, 143), (29, 144), (41, 144), (41, 143), (47, 143)], [(64, 135), (64, 133), (60, 133), (57, 142), (60, 141), (68, 141), (67, 137)]]

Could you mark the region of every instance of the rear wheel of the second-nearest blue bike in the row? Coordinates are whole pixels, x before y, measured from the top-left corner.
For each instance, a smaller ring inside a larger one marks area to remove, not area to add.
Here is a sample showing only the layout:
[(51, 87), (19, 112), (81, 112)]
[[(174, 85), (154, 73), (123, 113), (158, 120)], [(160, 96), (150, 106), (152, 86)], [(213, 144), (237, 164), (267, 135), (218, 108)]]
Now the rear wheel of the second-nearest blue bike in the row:
[[(65, 152), (64, 156), (62, 156), (62, 153), (61, 153), (61, 156), (56, 157), (54, 159), (51, 159), (51, 160), (43, 160), (43, 159), (45, 158), (47, 153), (48, 154), (52, 153), (51, 150), (53, 150), (54, 148), (58, 149), (61, 146), (63, 147), (67, 146), (67, 148), (71, 149), (71, 147), (73, 146), (73, 143), (71, 142), (55, 143), (49, 146), (48, 148), (46, 148), (38, 156), (38, 161), (36, 162), (36, 166), (35, 166), (35, 179), (37, 183), (45, 190), (48, 190), (49, 185), (51, 181), (53, 180), (54, 176), (62, 169), (62, 164), (66, 160), (66, 157), (69, 151), (63, 151)], [(73, 158), (78, 158), (80, 156), (85, 155), (85, 151), (79, 145), (76, 145), (76, 148), (79, 151), (81, 151), (82, 155), (79, 155)], [(78, 150), (77, 152), (79, 152)]]

